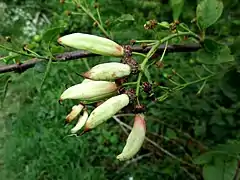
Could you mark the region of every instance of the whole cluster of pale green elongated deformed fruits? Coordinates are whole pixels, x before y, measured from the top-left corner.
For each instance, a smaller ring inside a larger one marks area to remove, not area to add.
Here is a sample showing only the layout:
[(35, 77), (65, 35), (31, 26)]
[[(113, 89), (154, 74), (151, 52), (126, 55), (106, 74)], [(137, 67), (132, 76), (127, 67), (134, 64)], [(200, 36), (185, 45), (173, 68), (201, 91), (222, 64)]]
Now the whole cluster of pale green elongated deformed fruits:
[[(116, 81), (119, 78), (129, 76), (131, 73), (138, 72), (138, 64), (131, 58), (132, 53), (128, 46), (122, 47), (112, 40), (82, 33), (63, 36), (58, 39), (58, 42), (62, 45), (104, 56), (122, 57), (119, 63), (102, 63), (92, 67), (89, 71), (82, 74), (85, 80), (81, 84), (71, 86), (62, 93), (60, 101), (78, 99), (81, 102), (73, 106), (72, 111), (66, 117), (66, 121), (71, 122), (79, 114), (82, 114), (75, 127), (71, 129), (71, 133), (76, 133), (83, 127), (82, 133), (92, 130), (134, 101), (134, 91), (121, 90)], [(104, 102), (97, 106), (89, 115), (87, 109), (84, 108), (84, 104), (100, 101)], [(132, 131), (127, 138), (122, 153), (117, 156), (117, 159), (128, 160), (132, 158), (141, 148), (145, 139), (145, 133), (144, 115), (141, 111), (136, 111)]]

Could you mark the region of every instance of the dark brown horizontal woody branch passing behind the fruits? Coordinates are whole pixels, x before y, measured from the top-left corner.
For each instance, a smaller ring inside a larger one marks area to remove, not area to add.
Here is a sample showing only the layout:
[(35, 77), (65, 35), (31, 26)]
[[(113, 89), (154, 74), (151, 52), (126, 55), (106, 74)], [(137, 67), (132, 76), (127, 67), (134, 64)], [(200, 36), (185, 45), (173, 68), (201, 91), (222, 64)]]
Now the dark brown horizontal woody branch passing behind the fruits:
[[(161, 45), (158, 50), (156, 51), (156, 54), (158, 55), (159, 53), (162, 53), (164, 51), (165, 45)], [(199, 44), (189, 44), (189, 45), (168, 45), (167, 51), (168, 53), (172, 52), (194, 52), (197, 51), (201, 48)], [(133, 46), (132, 51), (134, 52), (139, 52), (139, 53), (147, 53), (151, 47), (142, 47), (142, 46)], [(159, 54), (160, 55), (160, 54)], [(53, 60), (54, 62), (65, 62), (65, 61), (70, 61), (70, 60), (76, 60), (80, 58), (87, 58), (87, 57), (94, 57), (94, 56), (99, 56), (94, 53), (90, 53), (87, 51), (73, 51), (73, 52), (65, 52), (62, 54), (57, 54), (55, 55), (55, 59)], [(45, 60), (43, 59), (37, 59), (33, 58), (30, 59), (22, 64), (11, 64), (11, 65), (3, 65), (0, 66), (0, 73), (6, 73), (6, 72), (17, 72), (17, 73), (22, 73), (25, 70), (32, 68), (35, 66), (35, 64), (39, 62), (43, 62)]]

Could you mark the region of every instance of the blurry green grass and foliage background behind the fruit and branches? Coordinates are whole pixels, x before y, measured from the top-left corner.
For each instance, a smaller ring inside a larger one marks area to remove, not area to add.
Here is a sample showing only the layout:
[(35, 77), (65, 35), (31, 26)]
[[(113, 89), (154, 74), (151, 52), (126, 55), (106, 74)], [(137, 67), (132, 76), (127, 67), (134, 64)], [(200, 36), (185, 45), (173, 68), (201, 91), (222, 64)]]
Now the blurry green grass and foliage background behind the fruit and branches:
[[(94, 3), (87, 1), (96, 16)], [(119, 162), (116, 155), (127, 135), (114, 120), (82, 137), (69, 137), (72, 125), (64, 126), (74, 102), (59, 105), (58, 98), (66, 86), (82, 81), (76, 72), (87, 70), (85, 61), (44, 62), (21, 74), (1, 74), (1, 179), (237, 178), (240, 3), (99, 0), (98, 4), (105, 28), (120, 44), (129, 44), (131, 39), (159, 39), (169, 33), (159, 28), (144, 29), (150, 19), (169, 23), (179, 19), (192, 31), (205, 32), (204, 49), (167, 54), (164, 68), (152, 66), (149, 72), (154, 82), (171, 87), (167, 78), (171, 75), (184, 83), (172, 69), (187, 82), (212, 72), (216, 76), (206, 82), (188, 84), (162, 102), (149, 101), (141, 93), (141, 102), (147, 108), (147, 136), (153, 143), (146, 141), (133, 161)], [(58, 46), (58, 35), (71, 32), (103, 35), (71, 1), (3, 0), (0, 13), (0, 42), (16, 50), (27, 44), (40, 55), (51, 55), (71, 50)], [(11, 43), (6, 37), (11, 38)], [(176, 39), (172, 43), (188, 42)], [(7, 57), (1, 58), (1, 65), (29, 59), (2, 49), (0, 56)], [(90, 66), (108, 61), (118, 59), (88, 58)], [(157, 96), (164, 93), (157, 87), (154, 91)], [(132, 117), (121, 120), (132, 125)]]

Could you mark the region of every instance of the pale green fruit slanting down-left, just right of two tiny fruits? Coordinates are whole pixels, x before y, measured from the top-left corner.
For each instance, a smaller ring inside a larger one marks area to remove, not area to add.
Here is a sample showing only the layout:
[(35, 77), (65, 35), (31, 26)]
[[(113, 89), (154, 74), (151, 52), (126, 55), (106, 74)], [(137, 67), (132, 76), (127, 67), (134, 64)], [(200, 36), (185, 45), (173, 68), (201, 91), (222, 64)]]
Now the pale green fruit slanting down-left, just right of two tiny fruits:
[(129, 104), (129, 97), (126, 94), (111, 97), (100, 106), (95, 108), (90, 114), (84, 131), (95, 128), (110, 119), (114, 114)]

